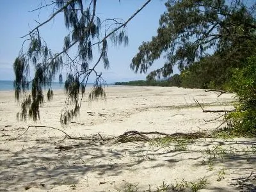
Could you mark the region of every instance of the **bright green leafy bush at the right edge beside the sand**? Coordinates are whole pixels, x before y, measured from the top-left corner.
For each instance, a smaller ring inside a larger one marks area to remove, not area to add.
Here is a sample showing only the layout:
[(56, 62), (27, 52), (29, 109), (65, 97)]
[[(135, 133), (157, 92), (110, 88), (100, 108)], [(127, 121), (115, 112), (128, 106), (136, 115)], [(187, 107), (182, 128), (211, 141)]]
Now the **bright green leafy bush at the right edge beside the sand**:
[(256, 133), (256, 55), (251, 56), (245, 67), (234, 69), (230, 79), (230, 90), (238, 99), (235, 112), (229, 113), (234, 129), (241, 134)]

